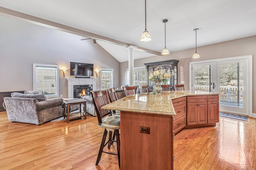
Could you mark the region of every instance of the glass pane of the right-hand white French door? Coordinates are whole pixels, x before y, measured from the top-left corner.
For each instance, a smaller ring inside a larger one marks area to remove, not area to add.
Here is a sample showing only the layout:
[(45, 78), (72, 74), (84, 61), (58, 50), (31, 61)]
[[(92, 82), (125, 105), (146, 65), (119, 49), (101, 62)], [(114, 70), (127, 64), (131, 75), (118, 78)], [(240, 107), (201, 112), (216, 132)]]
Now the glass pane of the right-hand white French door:
[(220, 64), (220, 105), (243, 107), (243, 63)]

